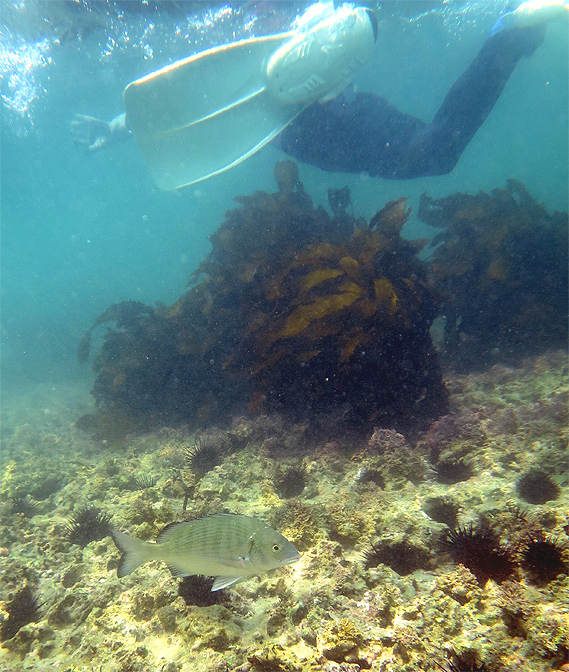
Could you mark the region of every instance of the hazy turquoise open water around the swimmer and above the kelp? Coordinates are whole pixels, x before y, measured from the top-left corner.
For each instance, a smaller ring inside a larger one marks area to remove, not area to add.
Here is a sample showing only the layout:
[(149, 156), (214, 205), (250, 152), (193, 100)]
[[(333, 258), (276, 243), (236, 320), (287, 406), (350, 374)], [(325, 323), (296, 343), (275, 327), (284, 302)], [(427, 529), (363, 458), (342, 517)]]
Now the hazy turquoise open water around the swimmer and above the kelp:
[[(191, 5), (191, 6), (190, 6)], [(2, 3), (2, 370), (4, 389), (91, 379), (76, 362), (79, 340), (110, 304), (174, 302), (209, 251), (208, 236), (237, 194), (274, 190), (283, 155), (250, 160), (179, 193), (160, 192), (133, 143), (85, 154), (71, 142), (74, 113), (111, 119), (128, 82), (213, 44), (286, 29), (302, 3), (243, 6), (165, 3), (137, 14), (120, 3)], [(359, 90), (430, 120), (484, 43), (505, 3), (387, 3)], [(387, 182), (300, 165), (317, 203), (350, 186), (355, 214), (422, 192), (525, 183), (548, 210), (568, 207), (567, 24), (551, 24), (539, 50), (517, 66), (456, 169)], [(405, 233), (424, 236), (411, 217)]]

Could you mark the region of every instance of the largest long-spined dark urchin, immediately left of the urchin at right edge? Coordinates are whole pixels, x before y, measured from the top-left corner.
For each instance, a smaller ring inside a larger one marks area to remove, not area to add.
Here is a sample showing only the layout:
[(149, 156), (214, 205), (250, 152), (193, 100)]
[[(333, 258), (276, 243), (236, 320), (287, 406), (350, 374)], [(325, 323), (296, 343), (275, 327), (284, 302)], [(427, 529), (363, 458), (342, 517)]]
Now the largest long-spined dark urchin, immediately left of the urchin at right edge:
[(473, 529), (471, 524), (447, 530), (441, 544), (454, 562), (474, 574), (481, 586), (488, 579), (501, 583), (515, 573), (511, 549), (503, 545), (499, 536), (487, 526)]

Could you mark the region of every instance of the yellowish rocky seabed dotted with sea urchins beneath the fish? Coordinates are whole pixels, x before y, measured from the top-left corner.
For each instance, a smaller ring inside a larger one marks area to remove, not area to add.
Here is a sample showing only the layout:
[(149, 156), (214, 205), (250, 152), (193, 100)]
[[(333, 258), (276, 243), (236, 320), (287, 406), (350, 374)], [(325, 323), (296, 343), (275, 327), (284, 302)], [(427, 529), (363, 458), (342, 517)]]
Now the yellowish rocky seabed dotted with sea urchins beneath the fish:
[[(92, 408), (83, 389), (11, 395), (0, 670), (567, 669), (566, 353), (445, 383), (451, 414), (413, 446), (277, 416), (97, 442), (74, 425)], [(118, 579), (119, 553), (103, 524), (81, 528), (83, 507), (143, 539), (173, 520), (254, 515), (302, 557), (207, 604), (207, 584), (179, 589), (162, 563)], [(498, 548), (481, 568), (483, 543)]]

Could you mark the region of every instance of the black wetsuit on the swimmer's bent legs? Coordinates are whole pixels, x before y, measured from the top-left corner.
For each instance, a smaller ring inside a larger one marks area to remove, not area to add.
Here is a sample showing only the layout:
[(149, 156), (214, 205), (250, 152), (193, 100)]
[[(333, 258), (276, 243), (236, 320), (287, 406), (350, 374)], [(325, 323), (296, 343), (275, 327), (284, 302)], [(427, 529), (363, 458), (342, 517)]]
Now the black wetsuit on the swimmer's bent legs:
[(522, 56), (543, 42), (545, 26), (503, 30), (484, 46), (448, 92), (430, 124), (384, 98), (358, 93), (304, 110), (273, 145), (322, 170), (405, 180), (444, 175), (490, 114)]

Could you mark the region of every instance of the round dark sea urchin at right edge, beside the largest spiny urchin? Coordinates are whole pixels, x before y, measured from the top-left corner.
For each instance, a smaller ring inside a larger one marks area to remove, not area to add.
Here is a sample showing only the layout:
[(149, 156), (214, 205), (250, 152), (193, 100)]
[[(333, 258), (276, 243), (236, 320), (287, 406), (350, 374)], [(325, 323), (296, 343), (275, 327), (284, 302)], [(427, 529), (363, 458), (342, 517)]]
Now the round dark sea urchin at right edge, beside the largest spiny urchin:
[(543, 530), (530, 532), (521, 545), (520, 564), (531, 583), (545, 585), (569, 573), (567, 550), (559, 537), (549, 537)]

